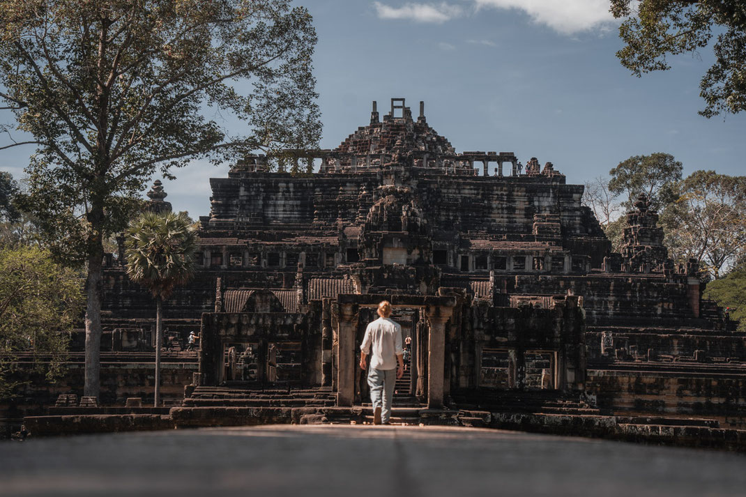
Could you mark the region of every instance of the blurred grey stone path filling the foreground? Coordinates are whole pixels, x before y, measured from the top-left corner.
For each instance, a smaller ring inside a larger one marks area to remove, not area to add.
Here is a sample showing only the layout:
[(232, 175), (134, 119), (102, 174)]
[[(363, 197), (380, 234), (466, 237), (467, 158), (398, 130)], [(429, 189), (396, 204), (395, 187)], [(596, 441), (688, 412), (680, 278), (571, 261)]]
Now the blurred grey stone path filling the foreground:
[(746, 496), (746, 456), (470, 428), (266, 426), (0, 443), (0, 496)]

